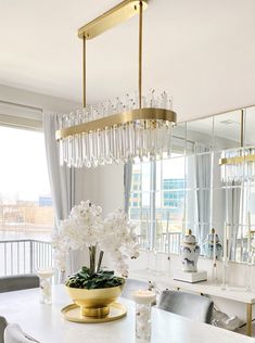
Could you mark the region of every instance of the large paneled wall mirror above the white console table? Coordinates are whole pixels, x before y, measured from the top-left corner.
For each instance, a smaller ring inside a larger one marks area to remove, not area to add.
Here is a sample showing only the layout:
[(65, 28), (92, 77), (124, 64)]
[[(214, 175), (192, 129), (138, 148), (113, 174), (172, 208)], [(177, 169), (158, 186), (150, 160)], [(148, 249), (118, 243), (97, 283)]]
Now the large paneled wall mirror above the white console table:
[[(133, 165), (140, 186), (132, 182), (129, 215), (139, 226), (142, 249), (178, 254), (182, 234), (191, 229), (203, 255), (212, 228), (222, 244), (227, 224), (229, 259), (247, 261), (247, 236), (253, 237), (255, 223), (255, 181), (247, 177), (244, 164), (220, 166), (219, 160), (254, 154), (254, 127), (255, 106), (181, 123), (174, 128), (170, 158)], [(224, 179), (230, 168), (239, 168), (238, 179)], [(248, 175), (255, 175), (253, 164), (248, 168)]]

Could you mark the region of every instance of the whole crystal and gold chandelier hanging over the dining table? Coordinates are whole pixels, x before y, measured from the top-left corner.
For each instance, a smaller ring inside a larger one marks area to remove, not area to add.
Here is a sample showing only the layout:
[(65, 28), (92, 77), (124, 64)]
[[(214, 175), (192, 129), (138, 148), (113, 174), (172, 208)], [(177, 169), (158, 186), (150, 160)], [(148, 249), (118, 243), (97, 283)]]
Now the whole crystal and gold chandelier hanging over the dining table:
[[(166, 92), (142, 96), (143, 1), (125, 0), (78, 30), (84, 42), (84, 109), (59, 117), (60, 163), (72, 167), (150, 161), (170, 154), (176, 113)], [(138, 94), (86, 105), (86, 41), (139, 15)]]

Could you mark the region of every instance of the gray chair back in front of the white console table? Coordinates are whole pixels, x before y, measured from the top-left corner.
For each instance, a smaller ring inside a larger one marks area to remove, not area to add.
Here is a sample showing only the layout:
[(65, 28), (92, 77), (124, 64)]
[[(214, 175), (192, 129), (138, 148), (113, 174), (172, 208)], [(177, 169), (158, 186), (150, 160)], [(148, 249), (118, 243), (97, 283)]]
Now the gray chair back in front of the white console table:
[(205, 296), (180, 291), (163, 291), (158, 308), (193, 320), (211, 323), (214, 303)]

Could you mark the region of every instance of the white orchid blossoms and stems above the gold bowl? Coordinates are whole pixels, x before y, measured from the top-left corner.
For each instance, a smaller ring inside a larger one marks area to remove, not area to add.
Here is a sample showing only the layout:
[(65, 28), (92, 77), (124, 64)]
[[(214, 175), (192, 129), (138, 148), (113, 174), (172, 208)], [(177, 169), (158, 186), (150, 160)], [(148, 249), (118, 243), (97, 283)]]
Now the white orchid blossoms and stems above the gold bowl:
[[(53, 238), (55, 261), (64, 270), (66, 255), (69, 250), (88, 247), (90, 252), (91, 274), (99, 271), (104, 252), (110, 254), (116, 270), (128, 275), (127, 258), (139, 255), (135, 226), (126, 214), (118, 209), (102, 219), (102, 208), (90, 201), (81, 202), (72, 208), (69, 217), (60, 225), (60, 233)], [(95, 269), (97, 247), (100, 249), (98, 268)]]

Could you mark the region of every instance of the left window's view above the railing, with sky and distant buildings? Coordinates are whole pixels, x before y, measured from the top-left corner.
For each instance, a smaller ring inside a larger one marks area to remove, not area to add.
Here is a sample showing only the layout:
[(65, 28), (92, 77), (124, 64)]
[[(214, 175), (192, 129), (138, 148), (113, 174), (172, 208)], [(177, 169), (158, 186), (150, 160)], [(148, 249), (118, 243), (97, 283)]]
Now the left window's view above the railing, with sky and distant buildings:
[(53, 208), (43, 134), (0, 126), (0, 241), (49, 240)]

